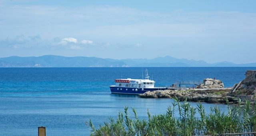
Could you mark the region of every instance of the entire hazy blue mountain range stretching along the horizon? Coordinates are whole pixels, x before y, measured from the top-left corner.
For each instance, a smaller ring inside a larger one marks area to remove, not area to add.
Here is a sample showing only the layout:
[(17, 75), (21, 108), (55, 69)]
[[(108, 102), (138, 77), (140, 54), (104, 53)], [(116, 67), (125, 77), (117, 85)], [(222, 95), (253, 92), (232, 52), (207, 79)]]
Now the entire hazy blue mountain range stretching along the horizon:
[(64, 57), (45, 55), (39, 57), (11, 56), (0, 58), (0, 67), (256, 67), (256, 63), (207, 63), (171, 56), (154, 59), (110, 59), (96, 57)]

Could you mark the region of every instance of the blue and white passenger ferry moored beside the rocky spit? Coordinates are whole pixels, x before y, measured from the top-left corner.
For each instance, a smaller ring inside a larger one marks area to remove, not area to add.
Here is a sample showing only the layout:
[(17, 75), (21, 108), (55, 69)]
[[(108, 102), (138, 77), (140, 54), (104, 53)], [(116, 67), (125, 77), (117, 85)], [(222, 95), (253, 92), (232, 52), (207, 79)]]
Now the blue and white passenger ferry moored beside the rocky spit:
[(154, 87), (155, 81), (150, 80), (146, 69), (145, 79), (115, 79), (116, 85), (109, 86), (112, 94), (143, 94), (147, 91), (166, 90), (166, 87)]

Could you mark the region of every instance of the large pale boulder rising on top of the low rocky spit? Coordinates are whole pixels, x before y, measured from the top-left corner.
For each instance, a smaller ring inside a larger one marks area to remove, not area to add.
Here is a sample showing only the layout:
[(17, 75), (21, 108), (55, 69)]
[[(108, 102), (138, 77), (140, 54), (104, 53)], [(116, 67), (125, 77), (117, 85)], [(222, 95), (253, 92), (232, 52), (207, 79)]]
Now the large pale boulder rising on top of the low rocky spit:
[(202, 89), (224, 88), (224, 84), (221, 80), (206, 78), (204, 79), (204, 84), (200, 84), (197, 88), (202, 88)]

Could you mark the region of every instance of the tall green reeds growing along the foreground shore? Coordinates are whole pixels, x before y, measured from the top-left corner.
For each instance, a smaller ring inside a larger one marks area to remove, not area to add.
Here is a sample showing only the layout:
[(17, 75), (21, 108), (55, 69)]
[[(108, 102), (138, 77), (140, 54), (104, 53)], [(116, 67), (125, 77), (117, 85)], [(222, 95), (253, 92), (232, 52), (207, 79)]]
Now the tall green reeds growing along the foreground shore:
[[(228, 104), (228, 100), (227, 104)], [(109, 118), (98, 129), (90, 120), (86, 124), (91, 129), (91, 136), (192, 136), (207, 134), (225, 134), (256, 131), (255, 107), (246, 101), (245, 105), (229, 106), (224, 113), (218, 106), (211, 107), (209, 114), (205, 113), (201, 103), (196, 108), (186, 100), (182, 103), (178, 99), (172, 102), (165, 114), (150, 115), (148, 119), (138, 119), (137, 112), (132, 109), (133, 118), (129, 118), (128, 107), (119, 112), (118, 118)], [(178, 118), (174, 114), (178, 112)], [(200, 117), (196, 117), (196, 112)]]

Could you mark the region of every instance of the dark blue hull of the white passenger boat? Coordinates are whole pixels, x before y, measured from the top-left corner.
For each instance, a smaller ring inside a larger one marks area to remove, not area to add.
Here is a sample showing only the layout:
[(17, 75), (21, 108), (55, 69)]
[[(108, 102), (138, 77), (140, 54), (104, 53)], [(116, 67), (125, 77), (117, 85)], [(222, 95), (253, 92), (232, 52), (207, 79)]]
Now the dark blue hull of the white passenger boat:
[[(137, 89), (137, 90), (136, 90)], [(112, 94), (143, 94), (147, 91), (156, 91), (156, 90), (166, 90), (167, 88), (131, 88), (131, 87), (116, 87), (110, 86), (110, 91)]]

